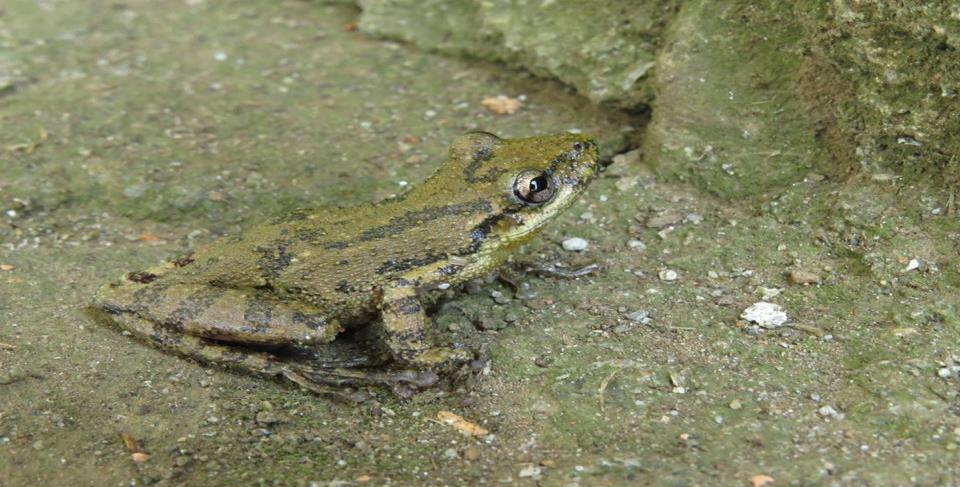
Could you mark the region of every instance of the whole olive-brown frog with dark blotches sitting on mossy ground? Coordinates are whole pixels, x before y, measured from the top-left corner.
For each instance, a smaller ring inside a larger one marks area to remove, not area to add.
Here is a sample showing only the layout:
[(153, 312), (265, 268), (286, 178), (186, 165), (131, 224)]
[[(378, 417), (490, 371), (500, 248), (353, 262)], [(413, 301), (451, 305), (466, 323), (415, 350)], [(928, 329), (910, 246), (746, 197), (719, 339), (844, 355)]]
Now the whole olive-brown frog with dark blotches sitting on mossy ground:
[(167, 351), (314, 392), (420, 391), (473, 360), (427, 338), (426, 296), (503, 265), (583, 194), (598, 154), (583, 134), (467, 133), (403, 194), (293, 210), (126, 273), (92, 308)]

